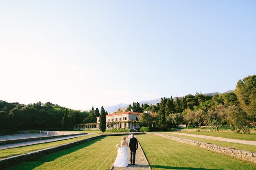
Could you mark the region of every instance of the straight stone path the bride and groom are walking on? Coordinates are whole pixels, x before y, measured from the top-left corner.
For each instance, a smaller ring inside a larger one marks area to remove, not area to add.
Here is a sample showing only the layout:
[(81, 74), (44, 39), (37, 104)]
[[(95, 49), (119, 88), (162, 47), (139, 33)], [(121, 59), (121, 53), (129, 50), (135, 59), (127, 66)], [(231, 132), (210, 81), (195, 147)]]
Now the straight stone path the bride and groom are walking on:
[[(128, 141), (128, 144), (130, 142), (130, 137), (131, 137), (131, 135), (129, 135), (126, 139)], [(135, 137), (136, 137), (136, 135), (135, 135)], [(136, 151), (135, 165), (130, 164), (130, 149), (128, 149), (128, 153), (129, 153), (128, 167), (112, 167), (112, 168), (110, 168), (110, 170), (151, 170), (151, 168), (148, 164), (148, 161), (144, 155), (144, 152), (141, 149), (140, 144)], [(114, 163), (113, 163), (113, 166), (114, 166)]]

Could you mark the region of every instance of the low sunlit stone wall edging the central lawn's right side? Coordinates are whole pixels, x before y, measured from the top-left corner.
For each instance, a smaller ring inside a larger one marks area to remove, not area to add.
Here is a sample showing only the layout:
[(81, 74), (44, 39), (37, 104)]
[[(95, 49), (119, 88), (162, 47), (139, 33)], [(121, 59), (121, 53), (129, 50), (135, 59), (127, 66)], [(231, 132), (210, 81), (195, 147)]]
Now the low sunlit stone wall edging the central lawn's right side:
[(193, 146), (198, 146), (200, 148), (205, 148), (208, 150), (212, 150), (214, 152), (219, 152), (225, 155), (229, 155), (232, 157), (236, 157), (239, 159), (243, 159), (245, 161), (249, 161), (249, 162), (254, 162), (256, 163), (256, 153), (255, 152), (249, 152), (249, 151), (245, 151), (245, 150), (238, 150), (238, 149), (234, 149), (234, 148), (228, 148), (225, 146), (218, 146), (218, 145), (214, 145), (214, 144), (210, 144), (210, 143), (205, 143), (205, 142), (200, 142), (200, 141), (193, 141), (190, 139), (184, 139), (184, 138), (180, 138), (180, 137), (174, 137), (174, 136), (169, 136), (169, 135), (164, 135), (164, 134), (160, 134), (160, 133), (156, 133), (156, 132), (146, 132), (146, 134), (154, 134), (157, 136), (161, 136), (161, 137), (166, 137), (175, 141), (179, 141), (185, 144), (189, 144), (189, 145), (193, 145)]

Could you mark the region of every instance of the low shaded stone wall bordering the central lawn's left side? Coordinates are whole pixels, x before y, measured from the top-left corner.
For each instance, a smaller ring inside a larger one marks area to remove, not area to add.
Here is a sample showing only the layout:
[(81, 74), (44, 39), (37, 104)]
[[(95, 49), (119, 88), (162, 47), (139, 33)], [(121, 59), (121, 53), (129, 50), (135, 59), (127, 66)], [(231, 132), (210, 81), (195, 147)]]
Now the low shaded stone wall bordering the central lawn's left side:
[[(67, 149), (67, 148), (71, 148), (73, 146), (77, 146), (77, 145), (83, 144), (85, 142), (88, 142), (88, 141), (91, 141), (93, 139), (97, 139), (97, 138), (100, 138), (100, 137), (120, 136), (120, 135), (130, 135), (130, 134), (131, 133), (114, 133), (114, 134), (107, 134), (107, 135), (99, 135), (99, 136), (96, 136), (96, 137), (90, 137), (90, 138), (87, 138), (87, 139), (82, 139), (82, 140), (71, 142), (71, 143), (68, 143), (68, 144), (62, 144), (62, 145), (54, 146), (54, 147), (51, 147), (51, 148), (36, 150), (36, 151), (29, 152), (29, 153), (26, 153), (26, 154), (23, 154), (23, 155), (16, 155), (16, 156), (12, 156), (12, 157), (3, 158), (3, 159), (0, 159), (0, 169), (2, 167), (11, 166), (11, 165), (14, 165), (14, 164), (19, 163), (19, 162), (31, 161), (31, 160), (36, 159), (38, 157), (42, 157), (42, 156), (45, 156), (47, 154), (51, 154), (51, 153), (59, 151), (59, 150), (64, 150), (64, 149)], [(144, 132), (139, 132), (137, 134), (145, 134), (145, 133)]]

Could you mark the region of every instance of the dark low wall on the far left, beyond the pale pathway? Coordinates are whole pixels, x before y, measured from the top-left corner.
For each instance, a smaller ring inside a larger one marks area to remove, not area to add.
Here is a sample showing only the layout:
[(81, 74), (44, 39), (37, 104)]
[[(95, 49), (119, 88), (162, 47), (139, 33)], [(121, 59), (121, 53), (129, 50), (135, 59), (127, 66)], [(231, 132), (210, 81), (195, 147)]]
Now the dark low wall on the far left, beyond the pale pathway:
[(76, 133), (76, 134), (70, 134), (70, 135), (43, 136), (43, 137), (32, 137), (32, 138), (24, 138), (24, 139), (2, 140), (2, 141), (0, 141), (0, 145), (17, 144), (17, 143), (26, 142), (26, 141), (38, 141), (38, 140), (44, 140), (44, 139), (53, 139), (53, 138), (58, 138), (58, 137), (86, 135), (86, 134), (88, 134), (88, 133)]

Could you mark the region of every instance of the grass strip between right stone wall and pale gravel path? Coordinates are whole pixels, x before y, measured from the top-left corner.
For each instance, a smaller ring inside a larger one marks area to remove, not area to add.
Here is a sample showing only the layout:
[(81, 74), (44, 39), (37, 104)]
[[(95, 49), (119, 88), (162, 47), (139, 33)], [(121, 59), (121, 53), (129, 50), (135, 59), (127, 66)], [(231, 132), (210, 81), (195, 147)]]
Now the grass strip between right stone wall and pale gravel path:
[(202, 141), (206, 143), (211, 143), (219, 146), (226, 146), (229, 148), (236, 148), (240, 150), (247, 150), (250, 152), (256, 152), (256, 146), (254, 145), (245, 145), (245, 144), (237, 144), (237, 143), (232, 143), (232, 142), (225, 142), (225, 141), (217, 141), (217, 140), (212, 140), (212, 139), (204, 139), (200, 137), (190, 137), (190, 136), (184, 136), (184, 135), (177, 135), (173, 133), (166, 133), (166, 132), (161, 132), (164, 135), (169, 135), (169, 136), (175, 136), (175, 137), (181, 137), (185, 139), (191, 139), (194, 141)]

